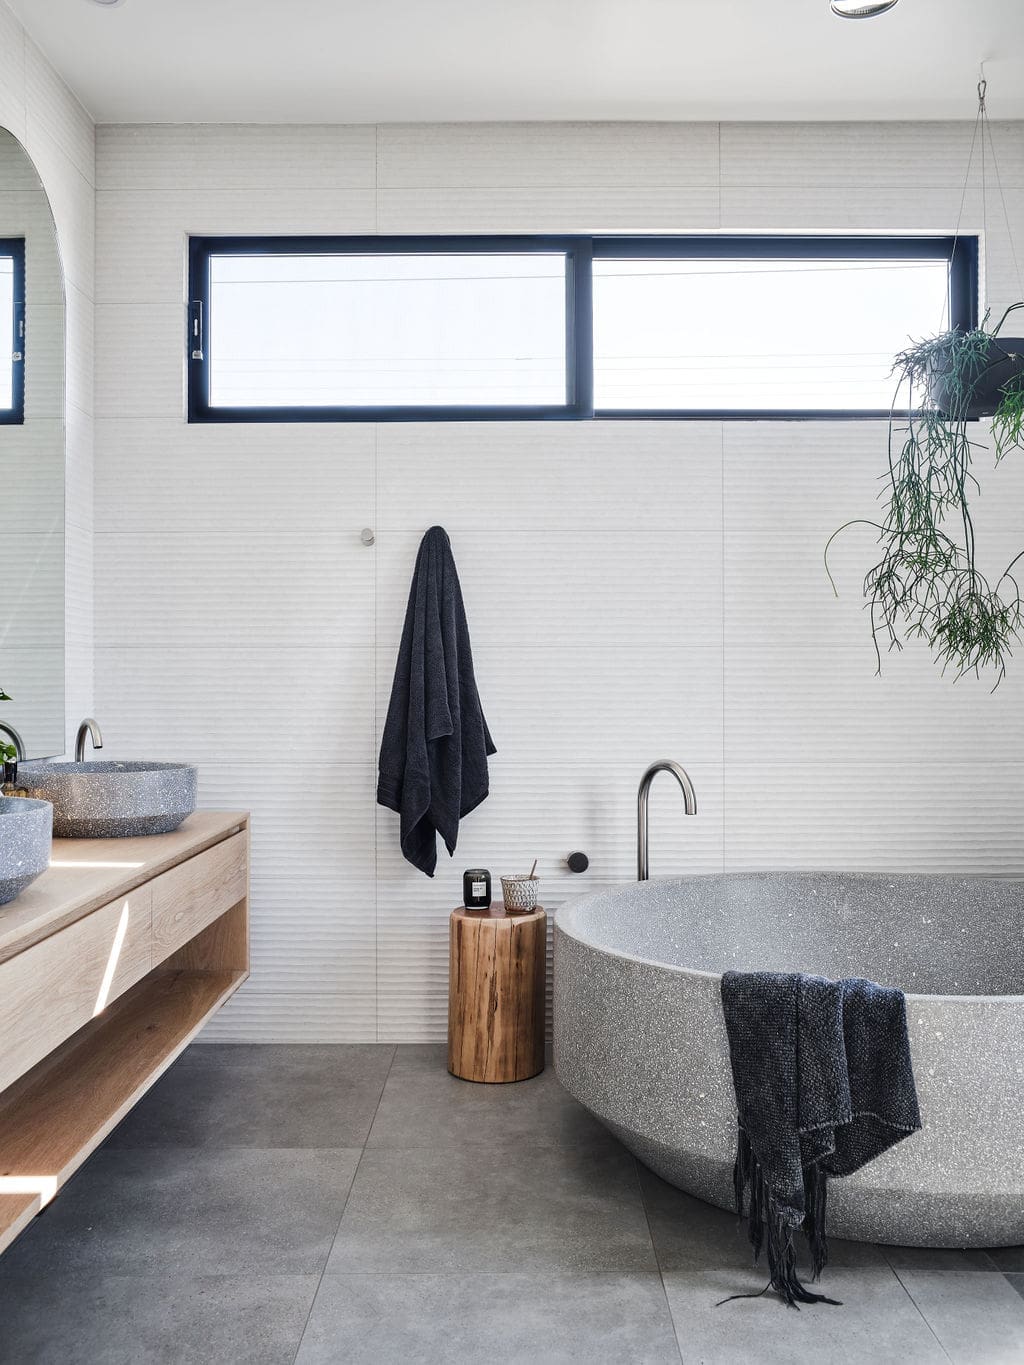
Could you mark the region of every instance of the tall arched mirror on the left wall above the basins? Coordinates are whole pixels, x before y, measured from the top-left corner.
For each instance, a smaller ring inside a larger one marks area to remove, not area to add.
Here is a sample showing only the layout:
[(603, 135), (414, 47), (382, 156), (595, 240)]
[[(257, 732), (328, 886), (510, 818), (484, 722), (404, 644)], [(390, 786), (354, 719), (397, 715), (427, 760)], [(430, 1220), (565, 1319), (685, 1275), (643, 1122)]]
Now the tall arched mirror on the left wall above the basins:
[(64, 752), (64, 281), (46, 192), (3, 128), (0, 517), (0, 725), (29, 758), (52, 756)]

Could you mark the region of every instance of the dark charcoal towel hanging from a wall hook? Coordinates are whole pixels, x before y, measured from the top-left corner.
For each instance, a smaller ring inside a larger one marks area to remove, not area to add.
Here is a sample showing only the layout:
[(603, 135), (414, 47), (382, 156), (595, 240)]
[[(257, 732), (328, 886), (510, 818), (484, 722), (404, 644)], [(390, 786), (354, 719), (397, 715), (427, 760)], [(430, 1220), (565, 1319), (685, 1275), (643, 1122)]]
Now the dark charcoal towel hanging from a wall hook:
[(455, 853), (459, 820), (487, 794), (494, 752), (452, 546), (433, 526), (416, 556), (377, 781), (378, 803), (401, 816), (401, 852), (427, 876), (436, 835)]

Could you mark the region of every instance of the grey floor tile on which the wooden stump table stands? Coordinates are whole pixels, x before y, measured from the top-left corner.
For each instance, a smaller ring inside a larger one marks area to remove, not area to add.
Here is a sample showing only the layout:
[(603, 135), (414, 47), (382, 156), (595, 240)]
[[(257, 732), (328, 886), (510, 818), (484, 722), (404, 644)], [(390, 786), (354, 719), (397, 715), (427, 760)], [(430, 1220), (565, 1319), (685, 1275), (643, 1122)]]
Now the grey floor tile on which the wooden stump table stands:
[(399, 1047), (370, 1129), (369, 1147), (453, 1143), (575, 1145), (614, 1143), (558, 1084), (549, 1065), (511, 1085), (481, 1085), (448, 1074), (445, 1047)]

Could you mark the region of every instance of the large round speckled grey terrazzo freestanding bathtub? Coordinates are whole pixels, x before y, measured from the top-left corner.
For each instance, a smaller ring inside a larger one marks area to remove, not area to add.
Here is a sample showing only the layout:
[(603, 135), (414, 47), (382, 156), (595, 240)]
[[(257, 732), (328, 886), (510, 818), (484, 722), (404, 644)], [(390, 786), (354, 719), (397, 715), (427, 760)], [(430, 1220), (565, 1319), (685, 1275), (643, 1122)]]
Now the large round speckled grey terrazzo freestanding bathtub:
[(658, 1175), (728, 1209), (729, 968), (867, 976), (907, 992), (924, 1129), (830, 1183), (834, 1235), (1024, 1242), (1024, 882), (688, 876), (558, 910), (558, 1080)]

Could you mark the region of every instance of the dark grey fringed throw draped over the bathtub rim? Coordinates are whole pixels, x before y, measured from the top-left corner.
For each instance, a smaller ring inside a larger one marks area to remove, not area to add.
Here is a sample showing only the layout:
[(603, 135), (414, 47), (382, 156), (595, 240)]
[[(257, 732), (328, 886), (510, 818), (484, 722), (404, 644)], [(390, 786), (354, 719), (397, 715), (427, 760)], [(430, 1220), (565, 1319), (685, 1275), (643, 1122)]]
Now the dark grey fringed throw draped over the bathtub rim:
[(736, 1088), (735, 1186), (750, 1188), (754, 1260), (767, 1249), (784, 1302), (836, 1304), (796, 1274), (803, 1227), (812, 1279), (827, 1260), (830, 1175), (849, 1175), (920, 1127), (902, 991), (852, 979), (726, 972), (722, 1009)]

